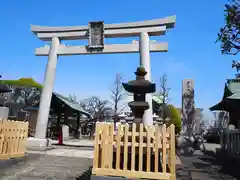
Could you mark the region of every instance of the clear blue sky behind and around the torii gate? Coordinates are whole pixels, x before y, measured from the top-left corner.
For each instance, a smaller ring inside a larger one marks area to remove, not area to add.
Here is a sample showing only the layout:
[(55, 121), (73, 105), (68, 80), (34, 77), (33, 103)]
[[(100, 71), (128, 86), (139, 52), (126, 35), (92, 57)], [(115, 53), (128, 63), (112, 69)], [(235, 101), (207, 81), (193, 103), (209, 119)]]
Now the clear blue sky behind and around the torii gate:
[[(151, 54), (152, 80), (158, 83), (166, 72), (171, 87), (171, 102), (181, 105), (181, 81), (195, 80), (196, 106), (209, 108), (223, 93), (226, 78), (233, 77), (233, 57), (222, 56), (215, 43), (217, 32), (224, 24), (223, 7), (219, 0), (8, 0), (1, 2), (0, 48), (1, 71), (4, 79), (44, 78), (47, 57), (36, 57), (36, 47), (44, 43), (30, 31), (30, 24), (60, 26), (86, 25), (89, 21), (105, 23), (132, 22), (177, 16), (177, 23), (166, 36), (152, 37), (169, 43), (169, 52)], [(136, 38), (111, 39), (109, 43), (131, 43)], [(73, 44), (73, 42), (66, 42)], [(84, 44), (77, 41), (74, 44)], [(55, 91), (76, 94), (79, 99), (92, 95), (109, 97), (114, 76), (120, 72), (124, 80), (134, 78), (139, 65), (138, 54), (112, 54), (60, 57)]]

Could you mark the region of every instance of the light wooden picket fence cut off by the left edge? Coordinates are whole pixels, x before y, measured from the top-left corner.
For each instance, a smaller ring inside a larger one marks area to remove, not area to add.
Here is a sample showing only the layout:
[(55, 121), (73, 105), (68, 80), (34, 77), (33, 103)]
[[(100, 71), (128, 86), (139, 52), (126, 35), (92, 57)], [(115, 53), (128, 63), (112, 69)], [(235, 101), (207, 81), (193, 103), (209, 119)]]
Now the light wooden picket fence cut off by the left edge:
[(24, 156), (28, 122), (0, 120), (0, 160)]

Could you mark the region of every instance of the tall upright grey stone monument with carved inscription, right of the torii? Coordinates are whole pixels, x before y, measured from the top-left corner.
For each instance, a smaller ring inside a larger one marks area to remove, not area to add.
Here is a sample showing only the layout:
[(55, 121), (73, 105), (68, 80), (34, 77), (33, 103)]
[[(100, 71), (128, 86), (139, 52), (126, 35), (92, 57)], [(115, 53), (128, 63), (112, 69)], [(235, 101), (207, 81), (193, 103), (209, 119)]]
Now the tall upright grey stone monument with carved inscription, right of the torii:
[(194, 81), (184, 79), (182, 81), (182, 135), (191, 136), (196, 133)]

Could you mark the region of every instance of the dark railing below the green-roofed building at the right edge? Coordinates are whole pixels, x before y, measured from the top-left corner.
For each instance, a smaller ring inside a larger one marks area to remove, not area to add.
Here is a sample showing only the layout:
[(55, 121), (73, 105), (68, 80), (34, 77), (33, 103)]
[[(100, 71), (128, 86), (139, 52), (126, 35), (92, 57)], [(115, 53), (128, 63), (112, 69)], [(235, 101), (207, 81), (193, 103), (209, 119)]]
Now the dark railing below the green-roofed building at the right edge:
[(221, 148), (233, 155), (240, 155), (240, 131), (224, 130), (221, 133)]

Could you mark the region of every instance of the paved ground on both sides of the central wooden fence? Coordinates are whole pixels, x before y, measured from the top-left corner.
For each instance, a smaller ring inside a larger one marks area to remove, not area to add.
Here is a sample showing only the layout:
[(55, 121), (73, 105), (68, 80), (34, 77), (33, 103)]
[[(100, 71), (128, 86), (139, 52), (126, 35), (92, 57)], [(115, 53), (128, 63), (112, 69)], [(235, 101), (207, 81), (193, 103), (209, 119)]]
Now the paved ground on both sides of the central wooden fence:
[[(21, 159), (0, 161), (0, 180), (70, 180), (92, 165), (92, 149), (63, 148), (29, 152)], [(240, 180), (239, 164), (220, 164), (213, 156), (195, 153), (179, 156), (177, 179), (187, 180), (189, 172), (198, 180)], [(227, 169), (226, 169), (227, 167)]]

